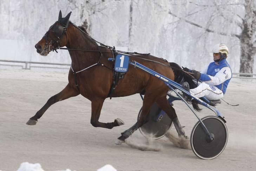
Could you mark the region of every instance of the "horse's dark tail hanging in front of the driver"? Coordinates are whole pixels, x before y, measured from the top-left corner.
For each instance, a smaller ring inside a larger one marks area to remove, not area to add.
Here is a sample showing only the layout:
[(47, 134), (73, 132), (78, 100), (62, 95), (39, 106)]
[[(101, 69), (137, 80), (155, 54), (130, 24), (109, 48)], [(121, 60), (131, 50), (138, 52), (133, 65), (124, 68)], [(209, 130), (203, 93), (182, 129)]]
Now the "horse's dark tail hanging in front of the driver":
[[(190, 89), (197, 87), (197, 85), (194, 83), (192, 77), (189, 74), (187, 74), (186, 72), (182, 71), (182, 68), (178, 64), (176, 64), (174, 62), (169, 62), (169, 64), (174, 72), (174, 81), (176, 83), (182, 84), (184, 82), (188, 82)], [(201, 108), (199, 108), (198, 102), (196, 100), (192, 99), (191, 102), (192, 102), (193, 108), (196, 111), (202, 110)]]

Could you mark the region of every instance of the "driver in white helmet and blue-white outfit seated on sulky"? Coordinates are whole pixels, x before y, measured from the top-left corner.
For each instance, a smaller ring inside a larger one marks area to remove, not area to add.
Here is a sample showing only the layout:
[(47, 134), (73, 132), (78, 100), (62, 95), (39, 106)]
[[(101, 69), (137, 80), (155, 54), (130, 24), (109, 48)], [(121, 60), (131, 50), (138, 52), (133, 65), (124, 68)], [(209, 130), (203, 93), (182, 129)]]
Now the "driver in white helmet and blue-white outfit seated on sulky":
[[(223, 98), (232, 77), (230, 65), (226, 60), (229, 50), (226, 45), (218, 43), (214, 45), (211, 52), (213, 53), (214, 62), (211, 62), (203, 71), (183, 69), (186, 72), (193, 73), (193, 76), (202, 83), (191, 90), (189, 90), (188, 82), (184, 82), (182, 86), (197, 98), (205, 97), (208, 100), (219, 100)], [(190, 100), (187, 96), (185, 98)]]

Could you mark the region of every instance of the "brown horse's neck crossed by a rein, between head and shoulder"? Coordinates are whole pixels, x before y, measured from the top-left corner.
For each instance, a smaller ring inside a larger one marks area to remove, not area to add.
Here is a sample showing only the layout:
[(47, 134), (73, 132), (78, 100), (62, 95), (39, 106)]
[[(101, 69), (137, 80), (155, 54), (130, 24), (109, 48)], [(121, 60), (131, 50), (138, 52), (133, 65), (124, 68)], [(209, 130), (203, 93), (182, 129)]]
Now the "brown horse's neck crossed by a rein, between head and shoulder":
[[(82, 33), (78, 28), (72, 25), (68, 28), (68, 49), (98, 50), (96, 42), (91, 40), (88, 35)], [(99, 53), (90, 51), (68, 50), (72, 60), (74, 71), (80, 71), (92, 64), (98, 62)]]

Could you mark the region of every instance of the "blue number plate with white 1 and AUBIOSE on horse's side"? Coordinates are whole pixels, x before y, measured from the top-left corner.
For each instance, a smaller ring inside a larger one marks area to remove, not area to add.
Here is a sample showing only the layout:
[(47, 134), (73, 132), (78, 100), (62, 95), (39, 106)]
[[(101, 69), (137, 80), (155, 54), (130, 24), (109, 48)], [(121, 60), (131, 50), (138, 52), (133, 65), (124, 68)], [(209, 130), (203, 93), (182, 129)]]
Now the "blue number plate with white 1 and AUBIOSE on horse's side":
[(117, 55), (116, 62), (115, 62), (115, 71), (116, 72), (127, 72), (129, 65), (129, 56), (127, 55)]

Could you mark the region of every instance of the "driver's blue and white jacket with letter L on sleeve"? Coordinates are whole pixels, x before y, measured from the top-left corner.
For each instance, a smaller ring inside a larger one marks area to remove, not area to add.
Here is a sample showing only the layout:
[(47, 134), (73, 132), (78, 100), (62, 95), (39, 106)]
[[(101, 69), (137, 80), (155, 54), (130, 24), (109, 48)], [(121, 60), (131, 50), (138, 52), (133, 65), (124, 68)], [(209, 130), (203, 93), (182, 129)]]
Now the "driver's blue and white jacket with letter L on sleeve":
[(199, 80), (209, 85), (216, 86), (225, 94), (231, 77), (232, 71), (230, 65), (226, 59), (223, 59), (218, 64), (211, 62), (209, 66), (201, 72)]

